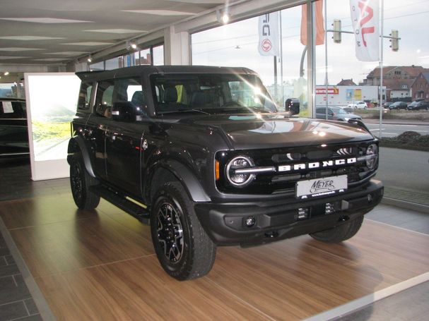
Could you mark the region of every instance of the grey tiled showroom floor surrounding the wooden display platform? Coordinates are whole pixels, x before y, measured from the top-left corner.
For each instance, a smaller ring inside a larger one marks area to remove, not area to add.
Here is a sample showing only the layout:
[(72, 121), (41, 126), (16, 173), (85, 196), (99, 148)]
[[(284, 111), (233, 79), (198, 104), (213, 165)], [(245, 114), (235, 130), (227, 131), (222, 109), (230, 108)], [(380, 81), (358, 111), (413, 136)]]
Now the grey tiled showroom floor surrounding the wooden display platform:
[[(28, 162), (0, 164), (0, 201), (69, 193), (69, 180), (30, 180)], [(429, 215), (379, 205), (367, 219), (429, 234)], [(336, 320), (427, 320), (429, 283), (377, 301)], [(42, 320), (17, 265), (0, 235), (0, 320)]]

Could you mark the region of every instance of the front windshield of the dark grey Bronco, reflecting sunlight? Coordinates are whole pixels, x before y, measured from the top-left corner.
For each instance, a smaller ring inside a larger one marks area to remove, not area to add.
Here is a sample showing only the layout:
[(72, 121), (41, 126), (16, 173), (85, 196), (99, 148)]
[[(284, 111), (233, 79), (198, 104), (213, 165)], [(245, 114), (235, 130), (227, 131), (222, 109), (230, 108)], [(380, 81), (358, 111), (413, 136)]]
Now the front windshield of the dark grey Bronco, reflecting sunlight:
[(151, 80), (157, 114), (277, 111), (256, 75), (166, 74), (153, 75)]

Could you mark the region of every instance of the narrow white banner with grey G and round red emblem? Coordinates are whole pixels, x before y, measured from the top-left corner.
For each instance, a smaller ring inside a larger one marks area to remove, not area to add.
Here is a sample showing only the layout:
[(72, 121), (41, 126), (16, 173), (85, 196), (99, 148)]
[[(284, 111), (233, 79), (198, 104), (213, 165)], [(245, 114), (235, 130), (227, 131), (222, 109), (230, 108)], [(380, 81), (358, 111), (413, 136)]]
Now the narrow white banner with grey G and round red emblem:
[(279, 56), (278, 13), (266, 13), (259, 16), (258, 50), (262, 56)]

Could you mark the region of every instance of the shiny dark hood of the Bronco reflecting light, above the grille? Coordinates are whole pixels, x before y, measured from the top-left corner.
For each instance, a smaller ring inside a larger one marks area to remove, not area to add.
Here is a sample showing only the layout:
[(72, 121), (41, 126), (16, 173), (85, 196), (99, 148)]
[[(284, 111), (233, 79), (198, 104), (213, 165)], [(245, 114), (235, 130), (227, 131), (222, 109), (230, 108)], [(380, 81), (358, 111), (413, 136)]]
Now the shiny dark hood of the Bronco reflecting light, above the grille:
[(203, 127), (204, 131), (217, 128), (234, 150), (329, 145), (374, 139), (360, 126), (339, 121), (288, 118), (283, 114), (193, 115), (175, 123)]

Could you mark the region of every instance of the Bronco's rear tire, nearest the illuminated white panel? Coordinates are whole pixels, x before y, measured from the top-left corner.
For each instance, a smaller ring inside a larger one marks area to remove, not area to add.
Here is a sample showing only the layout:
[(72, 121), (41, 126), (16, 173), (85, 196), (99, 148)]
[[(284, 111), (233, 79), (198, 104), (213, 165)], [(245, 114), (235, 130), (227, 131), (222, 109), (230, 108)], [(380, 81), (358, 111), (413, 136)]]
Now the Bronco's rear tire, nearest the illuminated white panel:
[(90, 191), (90, 186), (97, 185), (97, 179), (86, 171), (80, 153), (76, 153), (70, 162), (70, 188), (76, 206), (81, 210), (94, 210), (100, 203), (100, 196)]

